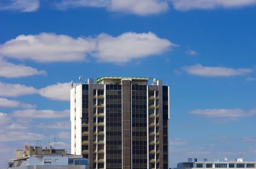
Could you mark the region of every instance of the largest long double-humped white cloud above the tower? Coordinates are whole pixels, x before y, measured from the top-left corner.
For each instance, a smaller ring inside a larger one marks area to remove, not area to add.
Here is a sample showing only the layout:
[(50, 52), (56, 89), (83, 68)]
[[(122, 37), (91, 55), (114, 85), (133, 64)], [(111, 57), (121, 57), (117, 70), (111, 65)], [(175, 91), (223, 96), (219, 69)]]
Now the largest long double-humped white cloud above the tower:
[(86, 59), (87, 54), (99, 62), (123, 63), (135, 58), (159, 55), (172, 47), (168, 39), (148, 32), (124, 33), (118, 37), (99, 34), (95, 38), (41, 33), (20, 35), (0, 45), (0, 54), (15, 59), (32, 59), (37, 62), (71, 62)]

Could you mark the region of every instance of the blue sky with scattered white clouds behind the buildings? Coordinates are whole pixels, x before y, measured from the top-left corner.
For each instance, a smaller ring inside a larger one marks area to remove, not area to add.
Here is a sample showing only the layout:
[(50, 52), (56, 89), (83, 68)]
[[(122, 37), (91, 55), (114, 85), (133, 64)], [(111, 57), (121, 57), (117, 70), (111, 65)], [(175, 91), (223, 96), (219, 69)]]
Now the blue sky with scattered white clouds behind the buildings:
[(243, 152), (245, 161), (254, 161), (255, 4), (0, 0), (1, 161), (38, 139), (46, 146), (58, 137), (56, 148), (70, 151), (64, 124), (70, 81), (79, 76), (168, 83), (172, 167), (218, 153), (220, 160)]

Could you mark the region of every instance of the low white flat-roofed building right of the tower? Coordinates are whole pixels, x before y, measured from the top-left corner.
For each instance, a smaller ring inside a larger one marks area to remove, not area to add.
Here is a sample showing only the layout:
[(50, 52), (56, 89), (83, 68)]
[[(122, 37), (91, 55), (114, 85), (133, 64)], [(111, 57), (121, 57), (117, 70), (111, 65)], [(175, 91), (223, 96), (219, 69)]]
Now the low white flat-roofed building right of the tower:
[(188, 162), (178, 163), (177, 168), (170, 169), (193, 169), (193, 168), (254, 168), (256, 162), (244, 162), (243, 158), (236, 158), (235, 161), (219, 161), (218, 158), (215, 158), (215, 161), (207, 161), (207, 158), (204, 158), (203, 161), (198, 161), (197, 158), (188, 159)]

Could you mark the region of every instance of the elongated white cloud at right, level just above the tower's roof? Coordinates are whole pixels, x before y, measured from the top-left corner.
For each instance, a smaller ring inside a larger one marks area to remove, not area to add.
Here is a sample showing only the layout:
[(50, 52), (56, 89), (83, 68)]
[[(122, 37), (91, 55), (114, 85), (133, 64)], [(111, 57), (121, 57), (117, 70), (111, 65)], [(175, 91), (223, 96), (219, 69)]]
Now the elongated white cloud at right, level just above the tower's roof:
[(248, 68), (226, 68), (226, 67), (205, 67), (201, 64), (196, 64), (192, 66), (184, 66), (181, 68), (183, 71), (186, 71), (191, 75), (198, 75), (204, 77), (213, 77), (213, 76), (245, 76), (249, 73), (252, 73), (253, 69)]

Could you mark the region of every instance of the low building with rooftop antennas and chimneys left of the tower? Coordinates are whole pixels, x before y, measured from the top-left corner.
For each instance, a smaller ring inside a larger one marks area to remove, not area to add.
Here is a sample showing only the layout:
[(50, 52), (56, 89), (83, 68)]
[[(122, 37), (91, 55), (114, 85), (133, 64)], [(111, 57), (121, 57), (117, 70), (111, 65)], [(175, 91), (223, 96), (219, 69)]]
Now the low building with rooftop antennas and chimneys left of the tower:
[(16, 158), (8, 164), (12, 169), (88, 169), (88, 160), (82, 155), (67, 154), (64, 149), (42, 149), (25, 146), (16, 150)]

